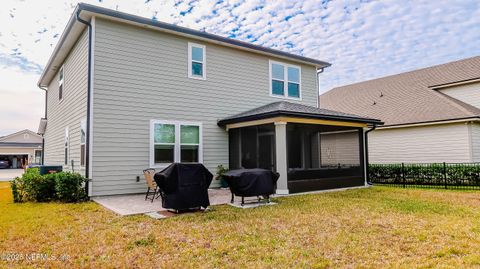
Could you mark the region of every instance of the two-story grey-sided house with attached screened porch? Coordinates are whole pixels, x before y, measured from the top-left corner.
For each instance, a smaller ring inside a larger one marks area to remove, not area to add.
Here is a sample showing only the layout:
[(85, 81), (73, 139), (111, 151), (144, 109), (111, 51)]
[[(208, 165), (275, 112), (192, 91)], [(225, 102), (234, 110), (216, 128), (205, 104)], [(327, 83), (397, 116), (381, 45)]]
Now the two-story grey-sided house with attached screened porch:
[(273, 169), (278, 193), (363, 186), (380, 122), (317, 108), (328, 66), (79, 4), (38, 83), (45, 164), (88, 176), (91, 196), (144, 192), (142, 170), (172, 162)]

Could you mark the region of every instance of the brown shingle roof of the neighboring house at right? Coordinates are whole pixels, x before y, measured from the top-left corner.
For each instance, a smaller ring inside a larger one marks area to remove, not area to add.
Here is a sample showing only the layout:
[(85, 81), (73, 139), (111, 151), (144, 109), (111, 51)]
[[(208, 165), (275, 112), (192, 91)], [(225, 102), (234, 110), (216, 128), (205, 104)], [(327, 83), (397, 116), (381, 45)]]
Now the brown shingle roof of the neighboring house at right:
[(480, 117), (480, 109), (432, 88), (480, 78), (480, 56), (333, 88), (320, 107), (377, 118), (388, 125)]

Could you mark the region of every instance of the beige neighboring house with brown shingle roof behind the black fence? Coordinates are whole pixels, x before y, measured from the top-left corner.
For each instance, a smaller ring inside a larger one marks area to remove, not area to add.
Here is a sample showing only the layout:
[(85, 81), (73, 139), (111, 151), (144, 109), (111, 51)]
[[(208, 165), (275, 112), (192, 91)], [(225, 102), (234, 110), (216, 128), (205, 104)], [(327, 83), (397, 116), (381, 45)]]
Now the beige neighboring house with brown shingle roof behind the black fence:
[(385, 122), (371, 163), (480, 162), (480, 56), (334, 88), (320, 107)]

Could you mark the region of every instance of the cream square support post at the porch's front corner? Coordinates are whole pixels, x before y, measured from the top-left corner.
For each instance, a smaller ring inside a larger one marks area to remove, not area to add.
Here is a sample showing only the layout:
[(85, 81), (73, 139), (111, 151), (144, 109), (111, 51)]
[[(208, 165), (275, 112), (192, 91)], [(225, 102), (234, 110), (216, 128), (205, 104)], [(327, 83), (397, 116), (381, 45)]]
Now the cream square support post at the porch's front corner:
[(275, 151), (277, 172), (277, 194), (288, 194), (287, 180), (287, 123), (275, 122)]

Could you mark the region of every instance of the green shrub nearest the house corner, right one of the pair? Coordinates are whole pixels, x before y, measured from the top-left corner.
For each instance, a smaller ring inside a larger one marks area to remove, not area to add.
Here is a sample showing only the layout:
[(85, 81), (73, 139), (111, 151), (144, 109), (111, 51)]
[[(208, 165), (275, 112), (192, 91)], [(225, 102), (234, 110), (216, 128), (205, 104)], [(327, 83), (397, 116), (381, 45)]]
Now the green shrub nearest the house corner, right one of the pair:
[(55, 178), (55, 191), (62, 202), (78, 202), (86, 198), (86, 179), (78, 173), (60, 172), (51, 174)]

